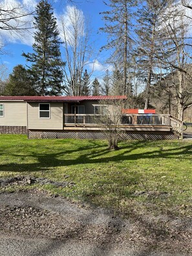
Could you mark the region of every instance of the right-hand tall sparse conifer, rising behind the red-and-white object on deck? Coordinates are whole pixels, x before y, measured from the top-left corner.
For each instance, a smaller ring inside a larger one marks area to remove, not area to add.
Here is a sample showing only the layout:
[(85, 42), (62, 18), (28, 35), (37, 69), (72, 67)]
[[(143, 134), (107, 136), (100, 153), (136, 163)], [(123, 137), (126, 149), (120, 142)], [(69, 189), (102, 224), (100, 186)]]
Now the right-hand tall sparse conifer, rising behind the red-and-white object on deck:
[(145, 84), (145, 106), (149, 106), (151, 85), (158, 78), (157, 70), (160, 70), (159, 59), (164, 41), (163, 30), (164, 16), (167, 12), (166, 0), (143, 1), (143, 6), (138, 10), (138, 67), (140, 68), (140, 80)]

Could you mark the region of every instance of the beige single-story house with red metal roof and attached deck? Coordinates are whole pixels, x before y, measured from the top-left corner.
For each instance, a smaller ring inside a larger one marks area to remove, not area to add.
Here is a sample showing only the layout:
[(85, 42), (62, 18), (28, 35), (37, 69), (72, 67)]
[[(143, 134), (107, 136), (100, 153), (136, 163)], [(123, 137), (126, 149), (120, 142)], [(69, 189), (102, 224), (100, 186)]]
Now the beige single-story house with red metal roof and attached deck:
[[(126, 96), (0, 96), (0, 133), (28, 138), (105, 138), (101, 116), (107, 101)], [(178, 138), (169, 115), (153, 115), (138, 123), (139, 114), (123, 114), (125, 139)]]

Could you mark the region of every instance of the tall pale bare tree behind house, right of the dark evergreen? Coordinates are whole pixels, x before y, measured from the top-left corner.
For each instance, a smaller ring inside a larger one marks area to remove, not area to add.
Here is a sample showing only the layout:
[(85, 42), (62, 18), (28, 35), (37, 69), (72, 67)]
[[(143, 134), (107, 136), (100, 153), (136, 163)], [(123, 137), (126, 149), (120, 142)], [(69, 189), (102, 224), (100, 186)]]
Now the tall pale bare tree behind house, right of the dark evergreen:
[(83, 93), (83, 74), (92, 56), (89, 42), (91, 31), (87, 24), (81, 10), (74, 6), (67, 7), (67, 18), (61, 17), (61, 37), (66, 58), (65, 92), (72, 96)]

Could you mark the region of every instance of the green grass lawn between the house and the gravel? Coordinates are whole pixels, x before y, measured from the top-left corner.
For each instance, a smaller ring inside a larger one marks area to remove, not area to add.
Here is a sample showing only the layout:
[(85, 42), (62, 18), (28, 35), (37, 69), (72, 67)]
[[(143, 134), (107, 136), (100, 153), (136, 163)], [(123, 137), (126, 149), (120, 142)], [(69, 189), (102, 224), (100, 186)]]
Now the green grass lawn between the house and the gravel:
[[(120, 151), (109, 151), (100, 140), (27, 140), (1, 134), (0, 145), (0, 177), (67, 181), (65, 188), (41, 188), (123, 215), (192, 215), (191, 142), (131, 141), (120, 143)], [(0, 187), (14, 189), (21, 186)]]

